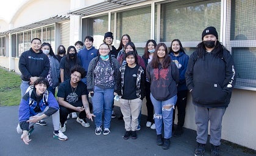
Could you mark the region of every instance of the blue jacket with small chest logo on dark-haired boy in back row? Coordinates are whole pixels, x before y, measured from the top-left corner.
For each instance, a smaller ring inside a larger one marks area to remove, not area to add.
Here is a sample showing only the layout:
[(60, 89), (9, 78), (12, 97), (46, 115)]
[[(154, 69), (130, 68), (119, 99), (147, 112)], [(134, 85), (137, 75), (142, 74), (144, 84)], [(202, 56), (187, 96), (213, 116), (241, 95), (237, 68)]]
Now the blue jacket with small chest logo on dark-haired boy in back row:
[(82, 67), (84, 67), (86, 72), (88, 71), (88, 66), (91, 59), (95, 58), (96, 56), (98, 56), (98, 49), (95, 49), (95, 47), (91, 47), (89, 50), (87, 50), (85, 47), (79, 51), (78, 58), (80, 59)]

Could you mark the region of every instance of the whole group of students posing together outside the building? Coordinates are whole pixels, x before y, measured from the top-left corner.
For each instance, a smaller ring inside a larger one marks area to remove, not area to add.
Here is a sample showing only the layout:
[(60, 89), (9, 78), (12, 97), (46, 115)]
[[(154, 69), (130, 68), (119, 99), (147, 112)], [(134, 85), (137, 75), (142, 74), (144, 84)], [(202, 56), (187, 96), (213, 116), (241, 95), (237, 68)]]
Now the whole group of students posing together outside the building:
[[(38, 39), (32, 40), (32, 49), (24, 52), (21, 58), (27, 55), (26, 53), (35, 52), (35, 47), (40, 46), (38, 41), (35, 46), (35, 40)], [(165, 43), (157, 44), (150, 39), (146, 42), (142, 57), (138, 55), (129, 35), (122, 36), (118, 49), (112, 46), (112, 42), (113, 33), (105, 33), (104, 43), (97, 50), (93, 47), (93, 38), (86, 36), (84, 49), (80, 49), (81, 44), (77, 43), (79, 52), (77, 53), (76, 47), (69, 46), (65, 55), (63, 52), (65, 47), (59, 46), (57, 53), (59, 56), (52, 55), (51, 45), (43, 43), (41, 50), (49, 57), (50, 66), (46, 63), (46, 66), (41, 68), (44, 75), (39, 76), (27, 71), (23, 73), (24, 66), (28, 64), (20, 58), (23, 81), (27, 82), (27, 85), (34, 84), (33, 89), (23, 94), (20, 104), (20, 123), (17, 131), (21, 133), (23, 130), (21, 135), (23, 141), (28, 144), (30, 141), (28, 136), (33, 129), (32, 124), (49, 115), (59, 116), (59, 119), (52, 118), (54, 138), (66, 140), (67, 137), (62, 132), (66, 131), (66, 120), (71, 112), (80, 112), (77, 122), (84, 127), (90, 126), (86, 118), (93, 121), (94, 117), (95, 134), (100, 135), (103, 131), (103, 134), (107, 135), (110, 133), (114, 98), (119, 100), (123, 114), (126, 129), (123, 138), (136, 139), (142, 101), (146, 97), (148, 109), (146, 126), (153, 126), (157, 133), (157, 144), (163, 149), (169, 149), (175, 108), (177, 106), (179, 112), (174, 137), (179, 137), (183, 133), (185, 107), (190, 90), (196, 110), (198, 146), (195, 155), (204, 154), (209, 120), (211, 136), (213, 135), (210, 139), (212, 155), (218, 155), (222, 116), (230, 102), (236, 76), (232, 56), (218, 41), (216, 29), (207, 27), (204, 30), (202, 42), (198, 44), (190, 58), (186, 55), (179, 39), (171, 42), (169, 53)], [(41, 50), (37, 52), (41, 53)], [(60, 72), (55, 69), (59, 61), (52, 61), (53, 58), (60, 60)], [(47, 69), (48, 75), (45, 73)], [(205, 72), (208, 73), (208, 70), (210, 73), (207, 76)], [(54, 89), (59, 84), (55, 84), (57, 78), (62, 82), (57, 92), (59, 104), (54, 98)], [(21, 89), (25, 88), (25, 83), (21, 84)], [(207, 87), (208, 91), (202, 93), (204, 87)], [(92, 100), (93, 114), (90, 112), (88, 93)], [(45, 98), (48, 100), (46, 101)], [(40, 111), (35, 110), (38, 106)], [(203, 119), (202, 114), (204, 114)], [(218, 118), (218, 121), (215, 118)]]

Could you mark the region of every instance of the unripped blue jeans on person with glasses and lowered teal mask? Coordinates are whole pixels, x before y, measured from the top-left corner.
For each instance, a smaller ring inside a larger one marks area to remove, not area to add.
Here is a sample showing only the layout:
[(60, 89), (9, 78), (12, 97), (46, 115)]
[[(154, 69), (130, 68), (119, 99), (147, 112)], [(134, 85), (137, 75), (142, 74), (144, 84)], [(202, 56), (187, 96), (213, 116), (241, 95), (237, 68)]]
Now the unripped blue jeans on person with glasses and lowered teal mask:
[(102, 112), (104, 111), (104, 128), (110, 128), (112, 106), (114, 101), (114, 89), (101, 89), (94, 86), (93, 114), (96, 127), (102, 126)]

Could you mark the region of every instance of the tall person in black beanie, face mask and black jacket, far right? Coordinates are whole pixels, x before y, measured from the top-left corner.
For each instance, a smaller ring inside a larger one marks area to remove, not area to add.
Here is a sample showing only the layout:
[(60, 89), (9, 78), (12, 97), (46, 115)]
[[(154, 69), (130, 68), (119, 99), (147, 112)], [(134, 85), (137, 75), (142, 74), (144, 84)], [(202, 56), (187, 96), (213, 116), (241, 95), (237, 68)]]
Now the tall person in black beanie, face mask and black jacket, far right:
[(219, 155), (222, 117), (229, 106), (235, 86), (235, 65), (230, 52), (218, 41), (215, 27), (202, 32), (202, 42), (188, 59), (185, 73), (197, 125), (195, 156), (205, 152), (210, 121), (211, 154)]

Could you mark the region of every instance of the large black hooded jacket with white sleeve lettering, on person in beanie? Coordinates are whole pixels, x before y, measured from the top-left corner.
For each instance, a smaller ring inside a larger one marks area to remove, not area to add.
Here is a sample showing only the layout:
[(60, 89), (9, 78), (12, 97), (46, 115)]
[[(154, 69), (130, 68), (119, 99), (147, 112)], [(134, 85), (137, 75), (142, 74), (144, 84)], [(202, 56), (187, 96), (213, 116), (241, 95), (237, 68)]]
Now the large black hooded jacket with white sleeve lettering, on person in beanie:
[(185, 78), (193, 103), (204, 107), (227, 107), (235, 86), (235, 67), (229, 51), (220, 58), (214, 52), (205, 52), (199, 58), (196, 52), (188, 60)]

